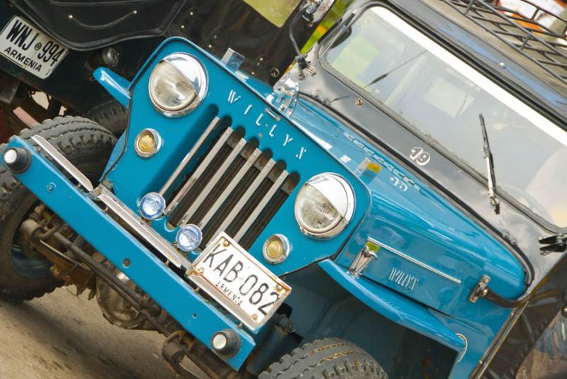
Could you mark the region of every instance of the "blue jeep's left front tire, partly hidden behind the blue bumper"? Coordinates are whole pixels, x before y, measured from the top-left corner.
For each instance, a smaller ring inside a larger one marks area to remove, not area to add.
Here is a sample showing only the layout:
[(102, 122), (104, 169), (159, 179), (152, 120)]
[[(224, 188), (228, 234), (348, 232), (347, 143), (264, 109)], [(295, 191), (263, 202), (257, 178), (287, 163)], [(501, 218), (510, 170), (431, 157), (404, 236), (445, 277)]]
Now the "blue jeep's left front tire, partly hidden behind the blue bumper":
[[(70, 116), (45, 120), (21, 133), (33, 145), (32, 135), (44, 137), (94, 181), (102, 174), (116, 142), (111, 132), (93, 121)], [(51, 262), (33, 250), (20, 232), (22, 222), (38, 203), (33, 193), (0, 166), (0, 299), (31, 300), (60, 285), (50, 273)]]

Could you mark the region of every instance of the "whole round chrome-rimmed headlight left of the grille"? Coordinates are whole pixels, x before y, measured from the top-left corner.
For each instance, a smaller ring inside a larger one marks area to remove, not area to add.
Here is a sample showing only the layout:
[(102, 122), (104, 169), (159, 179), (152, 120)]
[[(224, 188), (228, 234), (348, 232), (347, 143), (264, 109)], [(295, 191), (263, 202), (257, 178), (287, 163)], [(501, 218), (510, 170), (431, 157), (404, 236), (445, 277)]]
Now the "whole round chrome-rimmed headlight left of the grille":
[(157, 111), (176, 117), (189, 113), (207, 93), (203, 64), (189, 54), (176, 53), (161, 60), (150, 75), (150, 100)]

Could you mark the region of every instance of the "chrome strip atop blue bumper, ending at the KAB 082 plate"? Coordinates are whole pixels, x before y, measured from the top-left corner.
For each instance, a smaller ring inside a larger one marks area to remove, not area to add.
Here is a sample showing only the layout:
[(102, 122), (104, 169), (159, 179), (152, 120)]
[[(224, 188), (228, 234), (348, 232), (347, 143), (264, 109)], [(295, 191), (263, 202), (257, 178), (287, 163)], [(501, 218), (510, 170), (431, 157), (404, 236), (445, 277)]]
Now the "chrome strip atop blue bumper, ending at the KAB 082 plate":
[(164, 239), (164, 237), (157, 234), (157, 232), (143, 222), (140, 217), (137, 217), (130, 208), (126, 207), (111, 191), (108, 191), (106, 187), (96, 187), (93, 191), (93, 195), (96, 200), (100, 200), (108, 209), (120, 217), (120, 220), (123, 220), (128, 227), (131, 227), (132, 230), (140, 235), (145, 242), (152, 245), (159, 253), (163, 254), (169, 262), (176, 267), (191, 268), (191, 263), (187, 261), (184, 256), (181, 256), (172, 244)]

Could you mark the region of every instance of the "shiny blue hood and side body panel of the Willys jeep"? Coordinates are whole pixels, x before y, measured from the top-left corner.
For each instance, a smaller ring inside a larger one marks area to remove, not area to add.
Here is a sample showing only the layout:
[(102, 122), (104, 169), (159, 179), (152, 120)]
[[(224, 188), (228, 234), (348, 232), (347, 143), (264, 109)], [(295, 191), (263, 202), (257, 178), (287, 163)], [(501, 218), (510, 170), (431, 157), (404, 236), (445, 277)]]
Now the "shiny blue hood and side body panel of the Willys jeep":
[[(491, 288), (516, 298), (525, 288), (520, 263), (503, 244), (427, 183), (320, 108), (300, 101), (293, 119), (323, 140), (330, 154), (347, 162), (371, 191), (369, 216), (337, 257), (337, 264), (348, 267), (368, 237), (386, 244), (388, 248), (378, 251), (378, 259), (364, 276), (439, 310), (437, 318), (468, 339), (466, 355), (452, 375), (459, 378), (471, 373), (511, 310), (484, 299), (473, 304), (468, 296), (481, 276), (488, 274)], [(376, 175), (357, 171), (365, 158), (380, 164), (381, 171)], [(417, 279), (412, 290), (391, 278), (393, 268)]]

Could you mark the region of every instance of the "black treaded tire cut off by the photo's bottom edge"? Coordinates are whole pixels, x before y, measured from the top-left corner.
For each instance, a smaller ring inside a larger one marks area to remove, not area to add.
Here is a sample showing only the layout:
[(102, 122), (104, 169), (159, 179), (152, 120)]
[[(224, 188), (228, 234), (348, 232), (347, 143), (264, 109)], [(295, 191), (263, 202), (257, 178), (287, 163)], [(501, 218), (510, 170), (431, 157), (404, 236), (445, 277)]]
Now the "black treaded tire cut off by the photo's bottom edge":
[(258, 379), (388, 379), (369, 353), (349, 341), (325, 338), (304, 344), (281, 357)]

